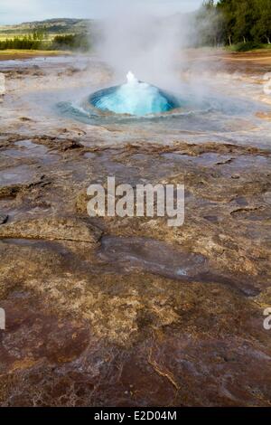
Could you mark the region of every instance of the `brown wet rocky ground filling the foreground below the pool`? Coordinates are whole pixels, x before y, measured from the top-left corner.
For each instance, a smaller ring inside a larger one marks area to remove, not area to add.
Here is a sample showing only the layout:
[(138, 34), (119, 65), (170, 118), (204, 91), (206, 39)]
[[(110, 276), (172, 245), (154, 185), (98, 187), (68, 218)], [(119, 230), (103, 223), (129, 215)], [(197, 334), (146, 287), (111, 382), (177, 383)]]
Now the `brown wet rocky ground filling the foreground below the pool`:
[[(270, 405), (271, 148), (44, 122), (20, 96), (46, 72), (6, 77), (0, 404)], [(89, 218), (107, 175), (184, 183), (185, 224)]]

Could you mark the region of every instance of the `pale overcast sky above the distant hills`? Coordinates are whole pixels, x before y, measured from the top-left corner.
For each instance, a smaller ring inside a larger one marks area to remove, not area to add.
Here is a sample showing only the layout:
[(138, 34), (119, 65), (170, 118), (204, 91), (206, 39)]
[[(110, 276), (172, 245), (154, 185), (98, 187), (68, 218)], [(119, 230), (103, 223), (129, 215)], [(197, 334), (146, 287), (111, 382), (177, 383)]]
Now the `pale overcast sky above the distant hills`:
[[(112, 7), (118, 1), (110, 0), (109, 4)], [(154, 14), (190, 12), (202, 3), (202, 0), (126, 0), (126, 3), (131, 1)], [(103, 18), (108, 10), (108, 0), (0, 0), (0, 24), (50, 18)]]

